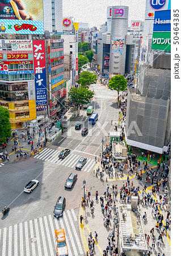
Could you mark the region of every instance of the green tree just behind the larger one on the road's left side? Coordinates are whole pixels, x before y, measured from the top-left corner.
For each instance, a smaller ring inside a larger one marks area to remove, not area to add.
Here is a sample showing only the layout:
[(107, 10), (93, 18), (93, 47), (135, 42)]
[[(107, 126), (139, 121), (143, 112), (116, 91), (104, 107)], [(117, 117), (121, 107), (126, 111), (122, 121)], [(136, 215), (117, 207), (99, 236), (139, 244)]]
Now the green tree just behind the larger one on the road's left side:
[(89, 85), (96, 84), (97, 80), (97, 75), (94, 75), (92, 72), (89, 71), (83, 71), (80, 73), (79, 80), (77, 82), (82, 87), (89, 88)]

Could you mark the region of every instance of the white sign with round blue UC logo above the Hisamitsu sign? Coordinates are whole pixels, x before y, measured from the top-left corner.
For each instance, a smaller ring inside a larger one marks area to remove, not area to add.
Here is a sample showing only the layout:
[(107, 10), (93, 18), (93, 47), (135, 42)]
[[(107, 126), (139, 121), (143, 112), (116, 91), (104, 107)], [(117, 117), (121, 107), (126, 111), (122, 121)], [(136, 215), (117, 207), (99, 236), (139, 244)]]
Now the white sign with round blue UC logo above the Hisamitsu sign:
[(145, 19), (154, 19), (155, 11), (167, 10), (168, 0), (146, 0)]

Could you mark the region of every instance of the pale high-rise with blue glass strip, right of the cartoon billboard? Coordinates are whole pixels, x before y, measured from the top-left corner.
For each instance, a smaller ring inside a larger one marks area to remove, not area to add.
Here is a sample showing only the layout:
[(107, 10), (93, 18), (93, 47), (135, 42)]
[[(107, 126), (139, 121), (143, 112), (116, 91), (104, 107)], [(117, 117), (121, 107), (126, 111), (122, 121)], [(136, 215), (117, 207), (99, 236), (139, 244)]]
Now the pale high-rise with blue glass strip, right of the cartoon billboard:
[(44, 31), (62, 32), (62, 0), (43, 0)]

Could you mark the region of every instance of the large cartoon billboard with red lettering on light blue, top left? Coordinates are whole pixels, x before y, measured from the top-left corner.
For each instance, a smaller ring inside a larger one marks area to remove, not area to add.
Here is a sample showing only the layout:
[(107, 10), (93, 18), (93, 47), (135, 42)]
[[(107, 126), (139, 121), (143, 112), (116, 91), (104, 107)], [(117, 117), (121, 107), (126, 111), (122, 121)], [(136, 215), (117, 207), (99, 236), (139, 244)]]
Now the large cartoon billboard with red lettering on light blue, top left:
[(43, 0), (1, 0), (0, 33), (44, 34)]

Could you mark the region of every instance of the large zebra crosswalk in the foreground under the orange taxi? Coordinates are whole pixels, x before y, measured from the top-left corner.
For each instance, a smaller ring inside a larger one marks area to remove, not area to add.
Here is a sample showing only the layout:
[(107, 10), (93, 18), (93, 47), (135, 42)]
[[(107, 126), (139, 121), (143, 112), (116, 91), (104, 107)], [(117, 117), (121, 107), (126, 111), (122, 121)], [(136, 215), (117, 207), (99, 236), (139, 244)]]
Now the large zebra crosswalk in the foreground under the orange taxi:
[(0, 229), (0, 255), (54, 256), (54, 230), (60, 228), (65, 230), (69, 256), (84, 255), (78, 236), (77, 211), (66, 210), (62, 218), (48, 215)]

